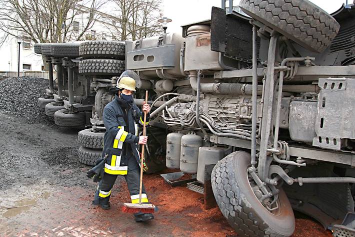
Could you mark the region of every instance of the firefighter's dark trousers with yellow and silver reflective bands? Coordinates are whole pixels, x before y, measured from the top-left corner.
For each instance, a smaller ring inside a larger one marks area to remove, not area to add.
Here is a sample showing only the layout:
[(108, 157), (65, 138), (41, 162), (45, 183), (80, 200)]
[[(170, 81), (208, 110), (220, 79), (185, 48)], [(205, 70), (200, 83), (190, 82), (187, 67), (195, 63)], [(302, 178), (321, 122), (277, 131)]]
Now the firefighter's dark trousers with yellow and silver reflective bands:
[[(131, 155), (127, 160), (128, 160), (127, 174), (123, 176), (125, 178), (125, 181), (127, 182), (131, 202), (138, 203), (140, 167), (133, 155)], [(109, 197), (111, 195), (111, 189), (114, 185), (114, 182), (116, 181), (117, 176), (118, 175), (104, 173), (101, 181), (98, 182), (93, 204), (108, 203)], [(144, 185), (142, 185), (141, 202), (142, 203), (148, 202)]]

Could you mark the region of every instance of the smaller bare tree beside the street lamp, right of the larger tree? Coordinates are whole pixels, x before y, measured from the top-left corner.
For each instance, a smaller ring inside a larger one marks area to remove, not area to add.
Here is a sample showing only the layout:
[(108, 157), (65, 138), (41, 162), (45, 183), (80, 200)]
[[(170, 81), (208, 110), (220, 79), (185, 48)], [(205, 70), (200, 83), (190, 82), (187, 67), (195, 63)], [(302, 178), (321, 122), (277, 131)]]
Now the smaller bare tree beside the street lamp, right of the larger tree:
[(160, 0), (112, 0), (111, 22), (106, 28), (114, 40), (137, 40), (162, 32)]

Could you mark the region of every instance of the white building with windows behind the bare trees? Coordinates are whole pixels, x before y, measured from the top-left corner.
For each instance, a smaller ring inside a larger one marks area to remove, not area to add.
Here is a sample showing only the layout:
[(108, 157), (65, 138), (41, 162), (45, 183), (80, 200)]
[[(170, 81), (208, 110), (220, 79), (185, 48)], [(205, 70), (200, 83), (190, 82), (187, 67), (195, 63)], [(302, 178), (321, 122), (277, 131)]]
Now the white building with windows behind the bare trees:
[[(112, 20), (109, 20), (111, 16), (103, 13), (99, 13), (100, 18), (97, 20), (93, 27), (88, 30), (84, 35), (91, 35), (93, 39), (97, 40), (112, 40), (111, 33), (107, 27), (110, 26)], [(86, 21), (86, 22), (85, 22)], [(109, 22), (109, 23), (108, 23)], [(85, 14), (75, 16), (75, 20), (72, 24), (72, 31), (70, 34), (74, 36), (82, 32), (87, 20)], [(114, 21), (113, 21), (113, 24)], [(112, 26), (113, 27), (113, 26)], [(0, 32), (0, 35), (2, 33)], [(20, 34), (14, 34), (20, 35)], [(43, 72), (43, 60), (41, 55), (34, 53), (34, 42), (24, 35), (20, 35), (21, 44), (18, 47), (18, 40), (16, 37), (8, 36), (6, 41), (0, 45), (0, 75), (17, 75), (17, 67), (19, 65), (20, 76), (22, 72)], [(84, 38), (84, 37), (83, 37)], [(18, 64), (18, 50), (19, 50), (19, 64)], [(38, 74), (40, 75), (40, 74)]]

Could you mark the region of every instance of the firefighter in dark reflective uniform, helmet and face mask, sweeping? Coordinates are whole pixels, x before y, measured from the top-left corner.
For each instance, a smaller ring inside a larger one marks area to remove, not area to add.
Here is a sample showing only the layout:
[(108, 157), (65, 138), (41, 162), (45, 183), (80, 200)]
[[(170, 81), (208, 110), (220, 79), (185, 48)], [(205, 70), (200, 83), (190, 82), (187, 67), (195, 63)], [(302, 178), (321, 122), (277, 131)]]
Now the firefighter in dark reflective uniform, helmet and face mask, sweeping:
[[(141, 112), (134, 104), (133, 93), (135, 92), (135, 81), (139, 76), (132, 71), (125, 71), (117, 80), (118, 89), (115, 98), (109, 102), (103, 110), (103, 123), (106, 128), (104, 134), (102, 158), (105, 160), (104, 174), (98, 183), (92, 204), (103, 209), (109, 209), (109, 198), (111, 189), (117, 175), (123, 175), (128, 186), (132, 203), (139, 200), (139, 178), (140, 158), (139, 145), (145, 145), (146, 136), (138, 136), (137, 123), (143, 124), (144, 112), (147, 113), (146, 123), (149, 122), (150, 107), (143, 104)], [(147, 167), (143, 165), (143, 170)], [(148, 198), (142, 186), (142, 203), (147, 203)], [(135, 221), (146, 221), (153, 219), (151, 213), (135, 213)]]

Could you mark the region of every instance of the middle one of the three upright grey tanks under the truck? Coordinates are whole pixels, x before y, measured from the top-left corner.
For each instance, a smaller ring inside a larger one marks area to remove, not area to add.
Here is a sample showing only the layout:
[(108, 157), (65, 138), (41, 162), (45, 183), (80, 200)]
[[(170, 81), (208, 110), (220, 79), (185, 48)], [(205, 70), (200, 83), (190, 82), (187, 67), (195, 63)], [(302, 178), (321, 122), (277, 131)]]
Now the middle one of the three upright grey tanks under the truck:
[(184, 173), (197, 173), (198, 148), (202, 146), (202, 138), (196, 134), (181, 137), (180, 170)]

